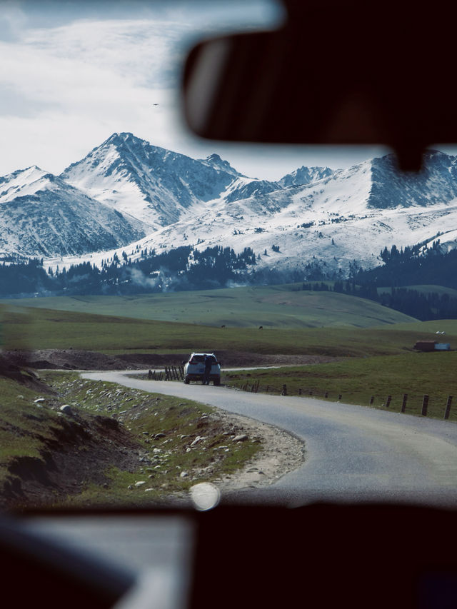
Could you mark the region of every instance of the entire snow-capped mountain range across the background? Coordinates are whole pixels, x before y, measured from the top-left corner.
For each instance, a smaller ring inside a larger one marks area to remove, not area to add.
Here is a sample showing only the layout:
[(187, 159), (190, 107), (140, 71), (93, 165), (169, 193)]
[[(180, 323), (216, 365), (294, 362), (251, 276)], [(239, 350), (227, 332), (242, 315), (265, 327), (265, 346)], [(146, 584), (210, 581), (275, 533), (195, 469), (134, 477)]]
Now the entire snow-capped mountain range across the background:
[(443, 248), (456, 246), (457, 157), (428, 151), (418, 175), (398, 173), (388, 155), (266, 181), (217, 154), (196, 160), (113, 134), (59, 177), (34, 167), (0, 178), (0, 226), (1, 251), (45, 256), (48, 266), (224, 245), (252, 248), (256, 272), (304, 273), (311, 263), (345, 275), (354, 262), (376, 266), (393, 244), (439, 234)]

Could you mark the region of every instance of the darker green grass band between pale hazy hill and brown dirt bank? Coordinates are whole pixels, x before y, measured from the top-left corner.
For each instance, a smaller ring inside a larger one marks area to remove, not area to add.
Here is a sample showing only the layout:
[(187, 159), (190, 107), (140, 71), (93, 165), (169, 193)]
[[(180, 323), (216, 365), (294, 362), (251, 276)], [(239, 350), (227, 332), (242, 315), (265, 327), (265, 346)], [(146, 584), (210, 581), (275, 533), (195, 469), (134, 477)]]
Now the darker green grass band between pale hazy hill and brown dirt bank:
[[(403, 316), (404, 317), (404, 316)], [(373, 328), (220, 328), (138, 318), (17, 307), (4, 311), (5, 349), (86, 349), (105, 353), (248, 351), (373, 356), (401, 353), (419, 339), (457, 344), (457, 321), (409, 322)], [(440, 338), (443, 340), (443, 338)]]

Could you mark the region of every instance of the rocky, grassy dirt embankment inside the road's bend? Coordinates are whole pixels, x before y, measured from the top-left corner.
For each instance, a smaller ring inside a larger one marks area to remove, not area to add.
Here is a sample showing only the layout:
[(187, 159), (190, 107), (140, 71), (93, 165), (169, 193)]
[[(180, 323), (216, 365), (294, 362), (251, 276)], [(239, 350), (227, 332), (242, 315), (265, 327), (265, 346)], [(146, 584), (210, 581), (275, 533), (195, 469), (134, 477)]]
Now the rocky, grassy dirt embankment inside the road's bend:
[[(6, 369), (8, 361), (3, 362)], [(10, 371), (24, 377), (24, 371), (14, 364)], [(74, 374), (56, 375), (50, 384), (30, 369), (25, 376), (42, 396), (34, 402), (36, 413), (28, 416), (47, 416), (51, 433), (46, 438), (31, 438), (40, 443), (40, 458), (16, 456), (7, 464), (0, 463), (6, 473), (0, 508), (72, 505), (72, 498), (77, 500), (88, 486), (98, 487), (101, 496), (96, 503), (84, 500), (84, 505), (144, 505), (146, 498), (169, 504), (188, 496), (177, 480), (190, 484), (202, 478), (213, 480), (224, 492), (271, 484), (303, 462), (303, 444), (298, 439), (246, 417), (223, 411), (208, 415), (198, 405), (170, 406), (168, 401), (175, 398), (105, 386)], [(189, 413), (192, 408), (195, 413)], [(176, 427), (176, 421), (166, 426), (166, 412), (177, 413), (178, 421), (187, 416), (182, 429)], [(21, 429), (11, 433), (17, 437)], [(22, 433), (30, 434), (29, 430)], [(261, 450), (241, 460), (235, 473), (224, 473), (224, 459), (236, 457), (236, 438), (243, 448), (253, 442)], [(136, 481), (144, 480), (144, 488), (135, 488), (135, 482), (115, 488), (110, 475), (113, 468), (136, 475)]]

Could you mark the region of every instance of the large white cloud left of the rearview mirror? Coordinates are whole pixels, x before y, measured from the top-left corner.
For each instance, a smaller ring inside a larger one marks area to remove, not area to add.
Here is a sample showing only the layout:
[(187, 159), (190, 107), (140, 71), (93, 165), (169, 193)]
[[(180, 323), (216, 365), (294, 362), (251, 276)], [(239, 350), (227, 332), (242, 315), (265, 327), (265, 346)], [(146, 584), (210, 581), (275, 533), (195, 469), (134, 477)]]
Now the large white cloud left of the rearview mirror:
[[(1, 41), (0, 175), (59, 173), (114, 131), (169, 147), (186, 24), (77, 21)], [(159, 104), (155, 106), (154, 104)]]

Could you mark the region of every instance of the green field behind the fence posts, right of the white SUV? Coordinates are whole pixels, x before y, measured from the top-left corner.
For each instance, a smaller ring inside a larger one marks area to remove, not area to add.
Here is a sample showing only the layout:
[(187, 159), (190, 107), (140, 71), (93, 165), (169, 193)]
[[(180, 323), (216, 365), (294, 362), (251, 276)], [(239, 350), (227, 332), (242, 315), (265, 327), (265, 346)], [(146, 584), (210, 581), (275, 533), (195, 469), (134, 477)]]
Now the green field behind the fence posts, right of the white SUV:
[[(227, 371), (222, 383), (250, 391), (289, 396), (313, 396), (329, 401), (400, 411), (407, 394), (406, 413), (420, 415), (428, 396), (427, 416), (443, 418), (448, 396), (453, 396), (451, 421), (457, 421), (457, 352), (408, 353), (396, 356), (350, 358), (313, 366), (291, 366), (258, 371)], [(327, 394), (327, 398), (325, 395)], [(386, 406), (391, 396), (390, 406)]]

